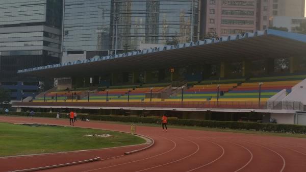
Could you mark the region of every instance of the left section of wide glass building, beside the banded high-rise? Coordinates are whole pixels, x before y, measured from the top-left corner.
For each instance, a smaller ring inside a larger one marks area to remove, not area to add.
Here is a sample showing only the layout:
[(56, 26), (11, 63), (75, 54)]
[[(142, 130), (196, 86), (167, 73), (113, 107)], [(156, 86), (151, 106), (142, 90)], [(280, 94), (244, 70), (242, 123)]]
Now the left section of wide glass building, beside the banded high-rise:
[(110, 10), (109, 0), (66, 0), (63, 51), (109, 50)]

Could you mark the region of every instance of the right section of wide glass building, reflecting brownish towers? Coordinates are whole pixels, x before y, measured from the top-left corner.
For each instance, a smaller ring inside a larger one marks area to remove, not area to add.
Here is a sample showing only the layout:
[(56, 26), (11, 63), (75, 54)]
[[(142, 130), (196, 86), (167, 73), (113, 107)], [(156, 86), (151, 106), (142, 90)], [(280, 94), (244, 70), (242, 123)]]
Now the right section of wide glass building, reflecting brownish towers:
[[(197, 40), (197, 1), (117, 0), (114, 2), (112, 15), (119, 17), (118, 48), (121, 50), (138, 50), (143, 43), (166, 44), (173, 38), (179, 42), (189, 42), (191, 32), (192, 40)], [(112, 28), (114, 31), (114, 22)], [(114, 36), (112, 34), (112, 40)]]

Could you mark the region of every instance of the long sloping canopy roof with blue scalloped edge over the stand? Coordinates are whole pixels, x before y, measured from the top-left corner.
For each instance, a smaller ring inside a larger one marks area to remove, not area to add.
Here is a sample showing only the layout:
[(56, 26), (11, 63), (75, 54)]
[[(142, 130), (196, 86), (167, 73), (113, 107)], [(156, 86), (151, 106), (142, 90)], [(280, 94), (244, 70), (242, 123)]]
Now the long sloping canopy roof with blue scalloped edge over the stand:
[(97, 73), (214, 64), (221, 60), (265, 59), (306, 55), (306, 35), (276, 30), (256, 31), (219, 39), (164, 45), (126, 54), (95, 57), (18, 70), (38, 77), (89, 77)]

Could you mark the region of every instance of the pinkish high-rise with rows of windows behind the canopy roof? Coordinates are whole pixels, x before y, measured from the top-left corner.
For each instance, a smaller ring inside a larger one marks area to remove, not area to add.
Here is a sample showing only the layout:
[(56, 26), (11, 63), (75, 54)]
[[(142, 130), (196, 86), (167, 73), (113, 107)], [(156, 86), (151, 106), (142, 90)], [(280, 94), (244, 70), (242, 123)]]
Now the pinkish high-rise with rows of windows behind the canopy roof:
[(267, 29), (270, 17), (268, 0), (201, 1), (201, 38), (208, 33), (228, 36)]

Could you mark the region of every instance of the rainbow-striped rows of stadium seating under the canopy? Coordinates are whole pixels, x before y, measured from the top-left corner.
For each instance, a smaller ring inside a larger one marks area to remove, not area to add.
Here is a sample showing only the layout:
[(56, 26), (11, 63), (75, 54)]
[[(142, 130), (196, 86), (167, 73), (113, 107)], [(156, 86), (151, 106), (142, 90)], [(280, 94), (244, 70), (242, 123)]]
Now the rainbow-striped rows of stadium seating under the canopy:
[[(222, 80), (203, 80), (201, 82), (187, 82), (188, 88), (184, 88), (184, 101), (217, 101), (217, 90), (219, 85), (219, 101), (235, 102), (235, 101), (258, 101), (259, 99), (259, 83), (263, 83), (261, 86), (261, 100), (267, 101), (270, 97), (278, 93), (283, 89), (287, 89), (287, 92), (291, 91), (291, 88), (306, 78), (306, 75), (287, 75), (287, 76), (274, 76), (274, 77), (261, 77), (250, 78), (248, 80), (244, 78), (238, 79), (222, 79)], [(144, 85), (121, 85), (110, 86), (108, 88), (101, 88), (103, 91), (91, 91), (89, 96), (90, 102), (106, 102), (108, 94), (109, 102), (175, 102), (182, 101), (182, 94), (177, 93), (174, 96), (168, 97), (168, 99), (148, 99), (146, 93), (149, 93), (152, 89), (153, 93), (162, 92), (170, 87), (170, 83), (154, 83)], [(181, 89), (177, 87), (177, 89)], [(88, 89), (87, 89), (88, 90)], [(46, 102), (55, 102), (56, 95), (58, 102), (65, 102), (67, 99), (71, 100), (71, 94), (77, 95), (81, 100), (73, 99), (73, 102), (87, 102), (87, 90), (78, 89), (76, 91), (52, 91), (45, 94)], [(179, 91), (180, 92), (180, 91)], [(44, 97), (38, 97), (34, 101), (42, 102)]]

